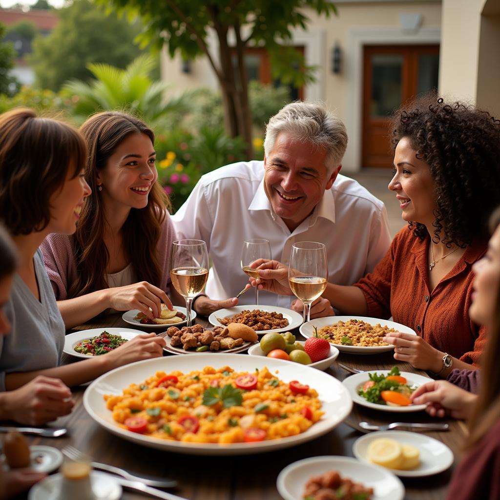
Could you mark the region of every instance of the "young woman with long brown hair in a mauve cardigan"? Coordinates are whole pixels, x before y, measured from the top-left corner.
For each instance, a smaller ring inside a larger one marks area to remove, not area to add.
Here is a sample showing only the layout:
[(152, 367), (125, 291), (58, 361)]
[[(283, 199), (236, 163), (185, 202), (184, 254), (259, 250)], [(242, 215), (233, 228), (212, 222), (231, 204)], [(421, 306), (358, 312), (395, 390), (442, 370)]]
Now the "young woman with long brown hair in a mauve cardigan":
[(51, 234), (41, 245), (64, 323), (74, 326), (108, 308), (157, 317), (161, 302), (171, 307), (165, 290), (175, 235), (157, 182), (154, 134), (116, 111), (91, 116), (80, 131), (92, 194), (74, 236)]

